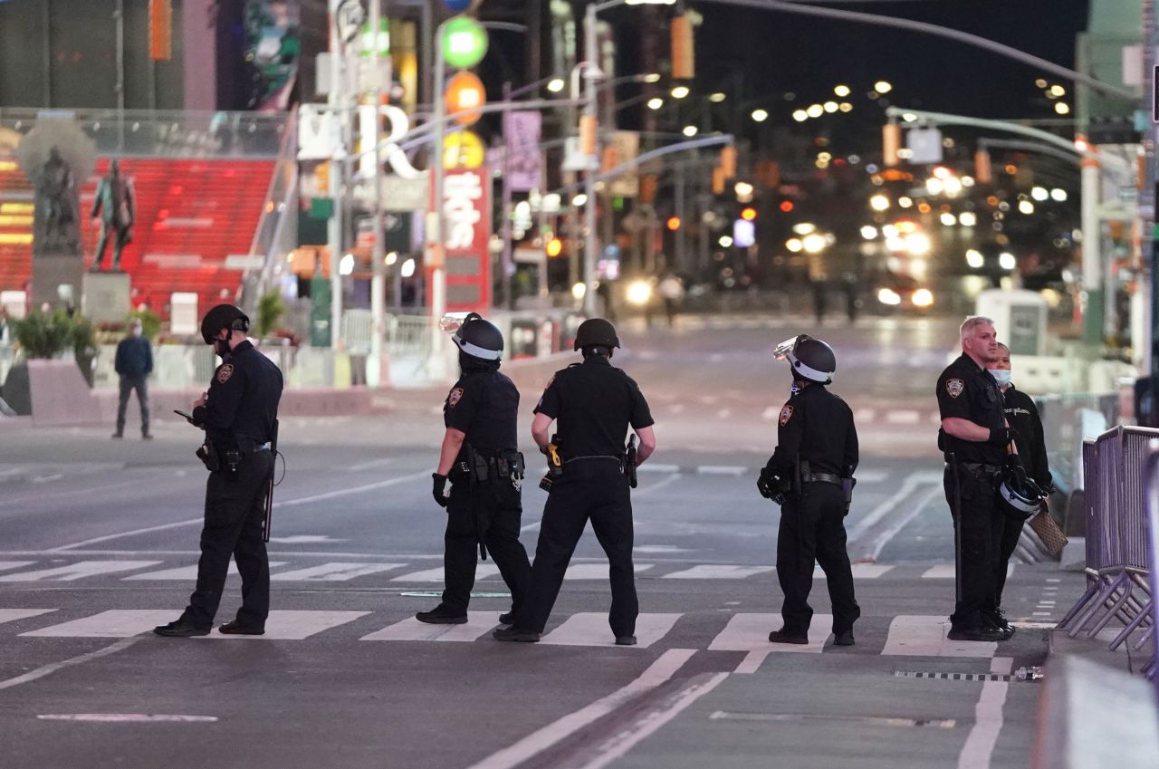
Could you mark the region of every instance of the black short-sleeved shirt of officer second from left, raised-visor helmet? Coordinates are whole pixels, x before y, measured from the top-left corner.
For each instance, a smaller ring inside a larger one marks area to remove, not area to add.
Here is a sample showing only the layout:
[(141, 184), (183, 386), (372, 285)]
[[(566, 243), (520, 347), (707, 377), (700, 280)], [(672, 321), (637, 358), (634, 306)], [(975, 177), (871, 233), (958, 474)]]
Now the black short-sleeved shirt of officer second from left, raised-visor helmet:
[(464, 373), (443, 404), (443, 423), (467, 435), (476, 451), (494, 455), (518, 445), (519, 391), (498, 371)]

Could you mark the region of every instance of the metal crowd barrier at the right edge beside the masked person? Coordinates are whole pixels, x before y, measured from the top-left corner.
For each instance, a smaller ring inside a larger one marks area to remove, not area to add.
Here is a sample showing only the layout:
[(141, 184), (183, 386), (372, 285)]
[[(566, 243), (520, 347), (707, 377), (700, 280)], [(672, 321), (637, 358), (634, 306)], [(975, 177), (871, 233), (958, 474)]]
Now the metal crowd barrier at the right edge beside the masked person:
[(1094, 638), (1114, 619), (1123, 630), (1109, 647), (1142, 627), (1139, 650), (1154, 630), (1143, 473), (1154, 438), (1159, 429), (1118, 426), (1083, 444), (1087, 590), (1058, 623), (1071, 638)]

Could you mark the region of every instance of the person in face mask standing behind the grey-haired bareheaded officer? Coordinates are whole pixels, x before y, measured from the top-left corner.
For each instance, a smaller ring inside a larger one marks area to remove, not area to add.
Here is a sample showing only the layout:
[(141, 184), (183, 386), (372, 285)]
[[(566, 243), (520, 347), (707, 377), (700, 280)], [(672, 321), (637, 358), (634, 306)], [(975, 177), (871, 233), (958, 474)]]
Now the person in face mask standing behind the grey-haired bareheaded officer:
[[(1049, 496), (1055, 487), (1055, 479), (1050, 474), (1050, 463), (1047, 459), (1047, 442), (1042, 434), (1042, 419), (1038, 416), (1038, 407), (1034, 405), (1034, 399), (1021, 390), (1016, 390), (1011, 382), (1011, 350), (1008, 347), (998, 343), (998, 358), (987, 369), (990, 376), (998, 383), (1003, 391), (1003, 406), (1006, 414), (1006, 423), (1014, 430), (1014, 445), (1018, 456), (1029, 476), (1044, 496)], [(1042, 500), (1045, 509), (1047, 500)], [(998, 625), (1009, 625), (1006, 614), (1003, 611), (1003, 588), (1006, 587), (1006, 570), (1009, 567), (1011, 556), (1018, 547), (1019, 538), (1022, 536), (1022, 525), (1026, 518), (1020, 515), (1003, 515), (1003, 535), (998, 546), (998, 568), (994, 572), (994, 602), (991, 611), (998, 618)], [(1011, 625), (1013, 626), (1013, 625)]]

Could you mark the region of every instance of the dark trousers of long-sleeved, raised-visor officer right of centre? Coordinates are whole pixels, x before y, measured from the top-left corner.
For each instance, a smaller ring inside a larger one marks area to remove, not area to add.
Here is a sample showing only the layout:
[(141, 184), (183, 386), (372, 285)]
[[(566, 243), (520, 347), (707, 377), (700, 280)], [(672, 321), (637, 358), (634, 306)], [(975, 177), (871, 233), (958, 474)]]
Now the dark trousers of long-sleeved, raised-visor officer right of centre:
[(836, 484), (806, 484), (781, 506), (777, 535), (777, 580), (785, 594), (785, 631), (806, 634), (812, 619), (809, 590), (814, 560), (821, 564), (833, 604), (833, 632), (853, 629), (861, 609), (853, 597), (853, 570), (845, 550), (845, 491)]

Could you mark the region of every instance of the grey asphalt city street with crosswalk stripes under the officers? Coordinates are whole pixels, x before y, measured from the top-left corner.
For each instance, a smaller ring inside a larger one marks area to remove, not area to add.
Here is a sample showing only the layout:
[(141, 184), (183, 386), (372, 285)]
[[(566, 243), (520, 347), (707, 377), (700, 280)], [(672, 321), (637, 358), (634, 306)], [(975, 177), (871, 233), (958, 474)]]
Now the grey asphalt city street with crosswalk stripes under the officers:
[[(658, 444), (633, 494), (635, 647), (612, 644), (590, 531), (541, 643), (491, 639), (510, 596), (490, 560), (467, 624), (414, 619), (442, 589), (444, 513), (430, 499), (442, 390), (386, 391), (369, 418), (283, 420), (261, 638), (151, 632), (178, 616), (196, 575), (194, 428), (170, 414), (152, 442), (110, 441), (111, 426), (0, 431), (0, 766), (1029, 766), (1041, 684), (1013, 674), (1043, 662), (1083, 575), (1019, 563), (1013, 639), (945, 638), (953, 530), (933, 393), (958, 321), (620, 324), (613, 363), (649, 399)], [(819, 570), (810, 643), (766, 640), (780, 626), (779, 508), (755, 481), (789, 392), (770, 353), (801, 332), (836, 349), (832, 391), (861, 438), (846, 521), (862, 610), (852, 647), (831, 645)], [(546, 499), (531, 409), (576, 360), (504, 367), (522, 392), (529, 554)], [(234, 574), (218, 623), (239, 587)]]

